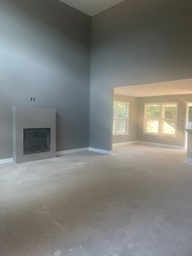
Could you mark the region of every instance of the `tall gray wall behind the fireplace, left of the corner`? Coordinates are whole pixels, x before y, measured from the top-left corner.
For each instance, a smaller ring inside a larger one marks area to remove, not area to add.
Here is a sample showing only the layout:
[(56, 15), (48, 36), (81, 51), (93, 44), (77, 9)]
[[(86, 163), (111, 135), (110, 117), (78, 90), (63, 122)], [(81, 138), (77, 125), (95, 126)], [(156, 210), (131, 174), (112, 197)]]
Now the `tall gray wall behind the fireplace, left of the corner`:
[(57, 0), (0, 4), (0, 159), (13, 155), (13, 106), (56, 108), (56, 151), (87, 147), (91, 17)]

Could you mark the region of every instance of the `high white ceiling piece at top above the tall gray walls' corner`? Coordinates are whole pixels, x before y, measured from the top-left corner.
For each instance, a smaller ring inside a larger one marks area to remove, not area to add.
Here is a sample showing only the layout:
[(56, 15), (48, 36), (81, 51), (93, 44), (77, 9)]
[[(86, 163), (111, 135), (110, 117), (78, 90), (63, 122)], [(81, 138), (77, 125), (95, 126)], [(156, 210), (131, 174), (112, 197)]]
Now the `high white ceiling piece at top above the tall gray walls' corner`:
[(60, 0), (89, 16), (94, 16), (125, 0)]

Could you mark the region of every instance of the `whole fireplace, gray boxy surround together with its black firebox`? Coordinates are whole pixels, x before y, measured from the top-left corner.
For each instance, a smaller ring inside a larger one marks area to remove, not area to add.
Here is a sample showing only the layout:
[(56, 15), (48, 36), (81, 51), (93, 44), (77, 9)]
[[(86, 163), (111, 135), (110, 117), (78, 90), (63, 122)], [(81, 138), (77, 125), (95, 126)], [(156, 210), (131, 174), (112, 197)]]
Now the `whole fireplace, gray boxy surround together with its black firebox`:
[(13, 107), (13, 162), (55, 157), (55, 108)]

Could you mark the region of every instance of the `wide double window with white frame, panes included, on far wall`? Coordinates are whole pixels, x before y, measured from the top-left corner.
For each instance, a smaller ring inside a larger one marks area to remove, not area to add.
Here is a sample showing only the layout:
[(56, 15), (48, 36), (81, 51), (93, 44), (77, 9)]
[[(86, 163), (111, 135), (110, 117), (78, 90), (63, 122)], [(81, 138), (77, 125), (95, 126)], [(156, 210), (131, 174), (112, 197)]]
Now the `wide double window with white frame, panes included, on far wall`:
[(176, 136), (177, 102), (146, 103), (144, 134)]

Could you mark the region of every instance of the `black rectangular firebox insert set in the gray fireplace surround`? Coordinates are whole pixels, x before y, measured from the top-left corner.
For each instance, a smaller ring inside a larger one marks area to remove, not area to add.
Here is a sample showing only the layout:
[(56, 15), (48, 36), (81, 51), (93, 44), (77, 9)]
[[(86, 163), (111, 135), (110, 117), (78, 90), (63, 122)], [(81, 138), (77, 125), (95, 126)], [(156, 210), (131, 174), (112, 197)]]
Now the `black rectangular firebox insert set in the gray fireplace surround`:
[(50, 151), (50, 128), (23, 129), (23, 155)]

